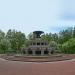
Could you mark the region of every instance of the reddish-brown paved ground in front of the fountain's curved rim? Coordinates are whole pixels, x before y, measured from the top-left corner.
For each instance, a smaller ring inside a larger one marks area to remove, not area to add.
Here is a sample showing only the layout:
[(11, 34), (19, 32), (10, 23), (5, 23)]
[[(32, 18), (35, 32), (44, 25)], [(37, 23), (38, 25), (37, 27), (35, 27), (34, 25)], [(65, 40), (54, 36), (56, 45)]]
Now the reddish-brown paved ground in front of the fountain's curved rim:
[(75, 75), (75, 59), (50, 63), (28, 63), (0, 58), (0, 75)]

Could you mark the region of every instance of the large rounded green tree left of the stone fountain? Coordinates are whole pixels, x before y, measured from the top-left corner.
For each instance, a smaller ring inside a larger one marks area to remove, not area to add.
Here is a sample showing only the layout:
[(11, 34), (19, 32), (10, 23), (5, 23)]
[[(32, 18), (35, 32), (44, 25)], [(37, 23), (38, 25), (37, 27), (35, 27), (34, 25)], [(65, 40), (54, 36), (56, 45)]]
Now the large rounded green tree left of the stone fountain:
[(21, 50), (26, 41), (25, 34), (16, 30), (8, 30), (6, 38), (10, 40), (13, 50)]

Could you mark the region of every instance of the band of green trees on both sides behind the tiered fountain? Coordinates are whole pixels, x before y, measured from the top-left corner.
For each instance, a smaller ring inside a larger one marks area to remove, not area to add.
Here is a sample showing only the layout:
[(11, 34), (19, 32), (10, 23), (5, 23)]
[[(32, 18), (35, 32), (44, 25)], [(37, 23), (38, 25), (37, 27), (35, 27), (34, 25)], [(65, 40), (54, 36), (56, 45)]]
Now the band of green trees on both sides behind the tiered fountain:
[[(0, 53), (20, 52), (22, 48), (28, 46), (33, 34), (27, 38), (21, 31), (9, 29), (7, 33), (0, 30)], [(47, 40), (50, 46), (56, 47), (61, 53), (75, 53), (75, 27), (69, 27), (59, 33), (46, 33), (41, 35), (41, 39)]]

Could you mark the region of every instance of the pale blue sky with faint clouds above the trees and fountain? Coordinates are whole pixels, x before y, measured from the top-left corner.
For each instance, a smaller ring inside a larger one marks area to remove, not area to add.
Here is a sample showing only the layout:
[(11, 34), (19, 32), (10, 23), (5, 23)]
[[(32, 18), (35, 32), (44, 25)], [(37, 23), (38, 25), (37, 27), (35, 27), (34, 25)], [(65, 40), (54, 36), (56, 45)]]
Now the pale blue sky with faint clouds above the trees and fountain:
[(0, 29), (26, 34), (75, 26), (75, 0), (0, 0)]

